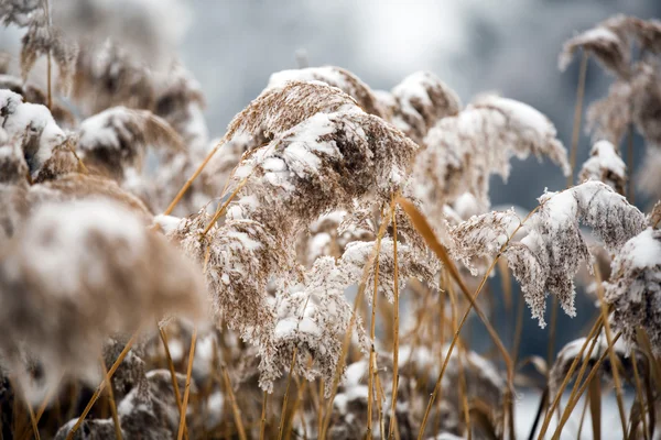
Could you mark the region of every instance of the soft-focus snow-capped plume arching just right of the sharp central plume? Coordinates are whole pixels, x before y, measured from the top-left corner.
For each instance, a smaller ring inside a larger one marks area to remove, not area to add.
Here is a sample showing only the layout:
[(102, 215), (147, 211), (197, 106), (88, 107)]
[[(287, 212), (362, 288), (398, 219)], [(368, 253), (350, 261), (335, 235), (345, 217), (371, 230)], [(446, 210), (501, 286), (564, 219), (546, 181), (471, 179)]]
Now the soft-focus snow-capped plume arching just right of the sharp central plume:
[(441, 119), (424, 140), (413, 175), (415, 194), (430, 215), (465, 191), (488, 206), (488, 176), (509, 176), (511, 156), (548, 155), (568, 173), (566, 150), (551, 121), (522, 102), (485, 97)]

